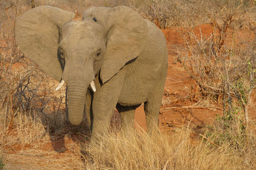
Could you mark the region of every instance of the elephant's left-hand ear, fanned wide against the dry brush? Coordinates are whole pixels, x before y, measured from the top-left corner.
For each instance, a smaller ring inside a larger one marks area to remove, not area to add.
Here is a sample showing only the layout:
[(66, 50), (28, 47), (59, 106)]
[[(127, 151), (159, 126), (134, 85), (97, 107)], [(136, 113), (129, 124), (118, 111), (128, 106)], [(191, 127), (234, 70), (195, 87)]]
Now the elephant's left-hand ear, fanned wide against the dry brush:
[(59, 29), (74, 13), (52, 6), (38, 6), (21, 15), (15, 25), (20, 50), (56, 80), (62, 69), (58, 59)]

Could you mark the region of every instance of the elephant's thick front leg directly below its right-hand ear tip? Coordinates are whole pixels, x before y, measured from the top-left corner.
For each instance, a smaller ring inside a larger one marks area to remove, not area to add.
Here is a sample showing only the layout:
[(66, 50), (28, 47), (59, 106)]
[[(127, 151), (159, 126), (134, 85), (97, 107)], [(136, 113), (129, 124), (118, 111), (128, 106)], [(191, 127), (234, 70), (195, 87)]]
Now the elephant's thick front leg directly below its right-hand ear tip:
[(108, 82), (100, 85), (99, 76), (95, 80), (96, 92), (93, 94), (92, 138), (108, 131), (110, 120), (124, 84), (124, 71), (119, 71)]

